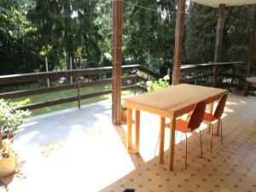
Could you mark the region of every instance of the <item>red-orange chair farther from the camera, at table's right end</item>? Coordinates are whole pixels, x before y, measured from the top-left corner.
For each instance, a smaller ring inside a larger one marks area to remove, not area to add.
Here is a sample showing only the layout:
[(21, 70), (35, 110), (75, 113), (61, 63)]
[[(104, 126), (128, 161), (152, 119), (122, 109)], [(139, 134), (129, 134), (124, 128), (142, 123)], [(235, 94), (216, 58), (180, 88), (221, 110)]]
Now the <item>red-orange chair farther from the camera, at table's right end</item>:
[(222, 120), (221, 116), (224, 112), (225, 104), (228, 98), (228, 94), (224, 94), (220, 97), (218, 106), (213, 114), (211, 113), (205, 113), (204, 115), (204, 120), (211, 122), (211, 153), (212, 153), (212, 122), (214, 120), (220, 120), (220, 136), (221, 136), (221, 144), (223, 143), (223, 138), (222, 138)]

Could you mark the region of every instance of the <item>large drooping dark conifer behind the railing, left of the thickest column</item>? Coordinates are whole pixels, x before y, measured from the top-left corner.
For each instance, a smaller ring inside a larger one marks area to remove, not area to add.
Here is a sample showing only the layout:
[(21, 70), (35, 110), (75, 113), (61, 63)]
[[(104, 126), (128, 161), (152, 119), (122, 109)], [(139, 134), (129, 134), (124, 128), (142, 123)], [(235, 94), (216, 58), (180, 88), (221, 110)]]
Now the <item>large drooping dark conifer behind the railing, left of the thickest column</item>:
[[(34, 0), (28, 18), (37, 28), (38, 49), (48, 55), (53, 67), (70, 67), (70, 57), (79, 67), (99, 61), (101, 38), (95, 24), (96, 2), (79, 0)], [(93, 59), (92, 59), (93, 58)]]

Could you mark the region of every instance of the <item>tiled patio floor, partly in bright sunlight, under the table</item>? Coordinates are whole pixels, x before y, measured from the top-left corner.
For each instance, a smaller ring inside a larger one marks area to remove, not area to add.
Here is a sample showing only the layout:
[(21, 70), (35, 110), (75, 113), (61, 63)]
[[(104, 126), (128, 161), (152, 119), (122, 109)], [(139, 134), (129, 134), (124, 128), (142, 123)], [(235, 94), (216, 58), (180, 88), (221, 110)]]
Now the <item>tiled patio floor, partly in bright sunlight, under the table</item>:
[[(34, 191), (256, 191), (256, 97), (230, 94), (223, 115), (224, 144), (202, 124), (203, 159), (197, 133), (177, 133), (174, 171), (154, 154), (160, 118), (141, 113), (141, 155), (125, 149), (126, 125), (113, 126), (111, 101), (28, 119), (15, 136), (19, 167), (2, 177), (9, 192)], [(168, 134), (166, 129), (166, 154)]]

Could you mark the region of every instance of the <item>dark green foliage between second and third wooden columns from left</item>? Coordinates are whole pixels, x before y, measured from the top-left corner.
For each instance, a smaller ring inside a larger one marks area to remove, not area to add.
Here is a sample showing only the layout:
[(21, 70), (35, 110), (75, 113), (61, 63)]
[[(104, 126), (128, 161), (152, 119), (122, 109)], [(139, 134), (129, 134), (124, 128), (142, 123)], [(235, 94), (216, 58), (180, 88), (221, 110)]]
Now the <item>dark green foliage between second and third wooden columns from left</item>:
[(185, 55), (191, 63), (213, 60), (218, 9), (189, 4), (186, 16)]

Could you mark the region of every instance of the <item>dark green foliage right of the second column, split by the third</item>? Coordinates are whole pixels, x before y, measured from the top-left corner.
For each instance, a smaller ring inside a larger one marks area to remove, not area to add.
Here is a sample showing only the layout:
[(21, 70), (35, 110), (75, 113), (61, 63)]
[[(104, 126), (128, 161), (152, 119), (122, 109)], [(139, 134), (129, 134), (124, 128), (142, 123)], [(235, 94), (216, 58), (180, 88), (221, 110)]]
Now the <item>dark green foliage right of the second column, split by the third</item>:
[[(253, 6), (226, 8), (221, 61), (247, 61), (253, 28), (253, 10)], [(213, 61), (217, 20), (218, 9), (190, 3), (185, 44), (188, 61)]]

